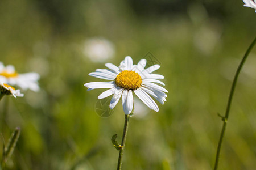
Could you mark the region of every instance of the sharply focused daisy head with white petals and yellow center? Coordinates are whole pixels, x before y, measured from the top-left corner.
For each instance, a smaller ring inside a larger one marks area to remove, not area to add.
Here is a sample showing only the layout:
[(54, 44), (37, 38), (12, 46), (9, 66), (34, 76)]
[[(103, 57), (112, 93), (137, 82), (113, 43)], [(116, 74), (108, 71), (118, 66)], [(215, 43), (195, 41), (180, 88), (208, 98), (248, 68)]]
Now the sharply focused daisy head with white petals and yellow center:
[(125, 111), (125, 114), (130, 114), (133, 110), (134, 92), (147, 107), (158, 112), (158, 105), (156, 105), (151, 96), (163, 104), (167, 97), (165, 92), (168, 91), (155, 84), (159, 83), (164, 86), (164, 83), (158, 80), (164, 79), (164, 76), (152, 74), (152, 72), (158, 70), (160, 66), (154, 65), (144, 69), (146, 62), (146, 59), (141, 59), (141, 61), (138, 62), (138, 65), (133, 65), (133, 59), (127, 56), (125, 57), (125, 60), (120, 63), (119, 67), (112, 63), (106, 63), (105, 66), (110, 70), (97, 69), (96, 72), (90, 73), (89, 75), (112, 81), (86, 83), (84, 86), (88, 87), (88, 90), (93, 90), (95, 88), (110, 88), (98, 96), (98, 99), (103, 99), (114, 94), (110, 101), (110, 109), (113, 109), (115, 105), (117, 105), (122, 96), (123, 111)]

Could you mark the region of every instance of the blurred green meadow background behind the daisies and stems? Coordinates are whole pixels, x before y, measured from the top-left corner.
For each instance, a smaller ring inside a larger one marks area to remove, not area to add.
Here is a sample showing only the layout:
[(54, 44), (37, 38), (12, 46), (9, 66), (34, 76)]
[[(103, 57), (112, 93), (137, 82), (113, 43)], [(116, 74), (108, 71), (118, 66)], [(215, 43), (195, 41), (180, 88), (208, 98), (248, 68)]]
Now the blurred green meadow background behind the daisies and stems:
[[(106, 62), (131, 56), (137, 63), (148, 52), (160, 62), (167, 102), (158, 103), (159, 113), (146, 108), (146, 116), (130, 118), (123, 169), (213, 169), (217, 113), (225, 113), (255, 19), (242, 0), (1, 0), (1, 61), (41, 76), (39, 92), (1, 100), (1, 114), (8, 102), (5, 141), (22, 129), (7, 169), (115, 169), (110, 138), (117, 133), (121, 141), (122, 105), (98, 116), (104, 90), (86, 91), (84, 83), (102, 81), (88, 74)], [(95, 38), (112, 44), (104, 62), (86, 53)], [(234, 94), (219, 169), (256, 167), (255, 67), (253, 49)]]

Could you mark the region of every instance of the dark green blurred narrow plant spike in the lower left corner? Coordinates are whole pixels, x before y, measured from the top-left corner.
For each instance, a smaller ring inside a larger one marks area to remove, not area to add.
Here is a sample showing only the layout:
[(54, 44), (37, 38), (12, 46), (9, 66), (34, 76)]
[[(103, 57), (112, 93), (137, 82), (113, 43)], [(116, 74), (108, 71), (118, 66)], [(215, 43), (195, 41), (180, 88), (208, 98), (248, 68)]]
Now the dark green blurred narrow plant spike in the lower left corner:
[(11, 137), (7, 143), (7, 146), (5, 148), (5, 162), (7, 162), (7, 160), (10, 158), (10, 156), (13, 154), (14, 148), (16, 146), (16, 143), (19, 139), (19, 135), (20, 135), (20, 128), (16, 127), (15, 131), (13, 132), (13, 134), (11, 134)]

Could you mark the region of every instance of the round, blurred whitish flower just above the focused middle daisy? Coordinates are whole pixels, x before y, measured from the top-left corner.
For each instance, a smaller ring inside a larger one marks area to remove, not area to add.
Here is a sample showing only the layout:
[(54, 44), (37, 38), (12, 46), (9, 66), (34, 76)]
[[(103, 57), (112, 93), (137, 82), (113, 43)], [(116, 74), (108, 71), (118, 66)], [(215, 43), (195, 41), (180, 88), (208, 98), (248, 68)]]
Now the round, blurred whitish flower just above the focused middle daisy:
[(85, 41), (83, 52), (91, 61), (102, 63), (112, 58), (115, 50), (112, 42), (102, 38), (93, 38)]

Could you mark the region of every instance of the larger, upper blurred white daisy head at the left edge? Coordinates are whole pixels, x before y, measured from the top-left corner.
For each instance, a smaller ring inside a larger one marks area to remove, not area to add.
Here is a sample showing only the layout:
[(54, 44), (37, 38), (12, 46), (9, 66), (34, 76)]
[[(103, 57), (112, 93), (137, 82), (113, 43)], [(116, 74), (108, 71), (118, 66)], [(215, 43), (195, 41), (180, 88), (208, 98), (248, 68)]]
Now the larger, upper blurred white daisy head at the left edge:
[(0, 62), (0, 82), (10, 84), (11, 86), (17, 85), (20, 88), (32, 91), (38, 91), (38, 80), (40, 76), (38, 73), (24, 73), (19, 74), (15, 71), (13, 65), (7, 65), (6, 67)]

